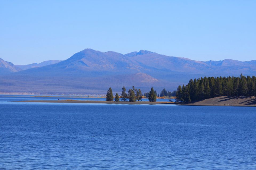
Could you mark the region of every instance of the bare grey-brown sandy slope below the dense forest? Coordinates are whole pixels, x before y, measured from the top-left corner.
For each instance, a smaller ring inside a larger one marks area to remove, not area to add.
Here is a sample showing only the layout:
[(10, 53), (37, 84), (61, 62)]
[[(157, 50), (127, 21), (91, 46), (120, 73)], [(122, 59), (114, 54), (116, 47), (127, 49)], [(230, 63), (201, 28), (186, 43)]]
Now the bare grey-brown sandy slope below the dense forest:
[(201, 100), (195, 103), (186, 105), (199, 105), (199, 106), (256, 106), (256, 97), (214, 97), (211, 99)]

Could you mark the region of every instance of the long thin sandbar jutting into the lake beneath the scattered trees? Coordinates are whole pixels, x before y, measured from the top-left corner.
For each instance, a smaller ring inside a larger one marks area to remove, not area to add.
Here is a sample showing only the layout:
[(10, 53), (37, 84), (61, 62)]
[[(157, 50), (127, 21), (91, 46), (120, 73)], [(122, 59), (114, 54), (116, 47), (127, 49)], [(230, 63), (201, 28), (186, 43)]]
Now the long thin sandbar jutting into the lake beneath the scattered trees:
[(97, 104), (175, 104), (175, 102), (150, 102), (150, 101), (83, 101), (83, 100), (23, 100), (13, 102), (37, 102), (37, 103), (97, 103)]

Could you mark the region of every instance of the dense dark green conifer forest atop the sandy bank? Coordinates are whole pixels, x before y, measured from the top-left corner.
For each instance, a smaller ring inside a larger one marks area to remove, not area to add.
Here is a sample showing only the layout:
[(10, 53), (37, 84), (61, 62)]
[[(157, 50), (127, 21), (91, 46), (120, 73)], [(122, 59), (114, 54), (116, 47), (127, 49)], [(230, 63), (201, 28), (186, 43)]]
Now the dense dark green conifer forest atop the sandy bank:
[(176, 102), (190, 103), (219, 96), (256, 96), (256, 77), (204, 77), (191, 79), (176, 92)]

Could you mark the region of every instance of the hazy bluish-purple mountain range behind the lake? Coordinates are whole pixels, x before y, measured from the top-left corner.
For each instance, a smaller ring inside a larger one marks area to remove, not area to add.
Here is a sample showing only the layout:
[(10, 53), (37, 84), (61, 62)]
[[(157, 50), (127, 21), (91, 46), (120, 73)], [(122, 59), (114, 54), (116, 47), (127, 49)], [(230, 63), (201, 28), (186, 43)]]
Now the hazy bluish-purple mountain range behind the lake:
[(204, 76), (255, 75), (256, 61), (195, 61), (140, 50), (121, 54), (85, 49), (64, 61), (14, 65), (0, 58), (1, 93), (105, 94), (123, 86), (173, 91)]

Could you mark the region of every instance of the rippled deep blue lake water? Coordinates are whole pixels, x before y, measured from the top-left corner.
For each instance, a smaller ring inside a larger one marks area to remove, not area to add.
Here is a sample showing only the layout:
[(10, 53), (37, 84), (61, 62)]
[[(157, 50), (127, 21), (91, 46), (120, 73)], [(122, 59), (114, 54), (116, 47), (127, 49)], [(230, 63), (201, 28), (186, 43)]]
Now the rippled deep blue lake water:
[(0, 169), (256, 169), (255, 107), (30, 98), (0, 96)]

